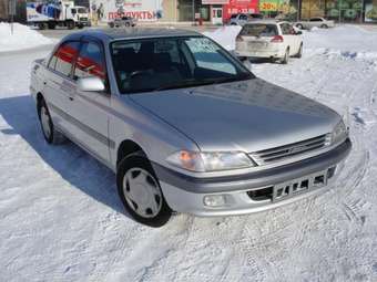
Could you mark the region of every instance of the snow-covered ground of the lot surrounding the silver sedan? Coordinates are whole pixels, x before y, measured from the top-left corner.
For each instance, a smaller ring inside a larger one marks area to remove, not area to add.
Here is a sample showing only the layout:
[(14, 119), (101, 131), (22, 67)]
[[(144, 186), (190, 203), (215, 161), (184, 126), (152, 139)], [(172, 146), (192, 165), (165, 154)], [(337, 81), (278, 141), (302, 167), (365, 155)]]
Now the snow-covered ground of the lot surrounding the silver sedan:
[[(216, 32), (234, 44), (234, 31)], [(51, 46), (0, 54), (0, 280), (377, 281), (377, 35), (304, 36), (303, 59), (252, 70), (348, 106), (354, 149), (334, 189), (252, 216), (179, 215), (162, 229), (132, 221), (114, 176), (75, 145), (44, 143), (28, 80)]]

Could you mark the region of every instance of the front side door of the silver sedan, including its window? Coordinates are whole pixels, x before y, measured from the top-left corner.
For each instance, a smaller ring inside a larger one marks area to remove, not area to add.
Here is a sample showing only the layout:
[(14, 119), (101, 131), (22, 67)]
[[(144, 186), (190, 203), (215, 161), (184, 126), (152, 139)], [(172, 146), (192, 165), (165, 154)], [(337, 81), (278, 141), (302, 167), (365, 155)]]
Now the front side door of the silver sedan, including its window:
[(69, 114), (73, 117), (78, 142), (104, 163), (110, 161), (109, 139), (110, 88), (108, 84), (104, 49), (101, 42), (84, 38), (73, 70), (77, 84), (82, 77), (98, 76), (106, 85), (103, 92), (82, 92), (75, 88), (70, 100)]

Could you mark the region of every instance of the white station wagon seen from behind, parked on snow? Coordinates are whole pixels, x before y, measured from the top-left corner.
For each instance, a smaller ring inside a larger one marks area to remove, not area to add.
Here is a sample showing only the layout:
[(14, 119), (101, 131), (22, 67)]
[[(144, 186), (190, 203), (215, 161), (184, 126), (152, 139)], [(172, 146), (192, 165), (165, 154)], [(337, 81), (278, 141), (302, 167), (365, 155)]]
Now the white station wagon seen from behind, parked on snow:
[(240, 59), (265, 58), (288, 63), (303, 54), (302, 32), (289, 22), (255, 21), (246, 23), (236, 38), (235, 54)]

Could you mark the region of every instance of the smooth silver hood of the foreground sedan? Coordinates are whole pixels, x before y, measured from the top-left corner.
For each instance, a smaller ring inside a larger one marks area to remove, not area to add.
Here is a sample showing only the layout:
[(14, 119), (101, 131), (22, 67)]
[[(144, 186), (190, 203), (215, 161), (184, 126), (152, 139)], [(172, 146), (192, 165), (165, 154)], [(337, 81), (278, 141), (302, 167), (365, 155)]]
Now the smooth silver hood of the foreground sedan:
[(330, 133), (333, 109), (261, 79), (131, 95), (201, 150), (246, 153)]

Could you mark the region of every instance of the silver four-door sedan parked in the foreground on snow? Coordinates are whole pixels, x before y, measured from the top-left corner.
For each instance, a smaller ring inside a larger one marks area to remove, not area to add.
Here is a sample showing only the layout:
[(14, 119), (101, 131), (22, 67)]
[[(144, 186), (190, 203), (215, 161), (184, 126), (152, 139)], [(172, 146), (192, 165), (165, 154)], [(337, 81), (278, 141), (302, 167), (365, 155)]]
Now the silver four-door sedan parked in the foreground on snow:
[(111, 168), (128, 212), (153, 227), (172, 210), (243, 215), (322, 194), (351, 148), (336, 112), (192, 31), (67, 35), (30, 90), (47, 143), (68, 137)]

